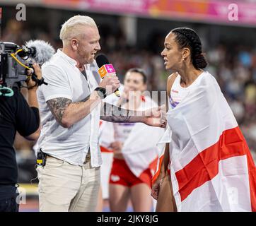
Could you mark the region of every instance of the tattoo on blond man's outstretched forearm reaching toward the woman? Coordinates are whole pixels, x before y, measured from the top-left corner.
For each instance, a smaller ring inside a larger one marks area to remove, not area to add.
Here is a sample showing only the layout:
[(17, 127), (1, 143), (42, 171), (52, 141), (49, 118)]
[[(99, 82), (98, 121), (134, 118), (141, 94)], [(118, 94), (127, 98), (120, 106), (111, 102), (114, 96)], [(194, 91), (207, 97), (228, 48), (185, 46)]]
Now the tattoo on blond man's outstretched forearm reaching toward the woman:
[(110, 105), (106, 102), (104, 102), (103, 106), (101, 107), (100, 119), (105, 121), (135, 122), (140, 121), (139, 118), (140, 116), (137, 117), (135, 111)]

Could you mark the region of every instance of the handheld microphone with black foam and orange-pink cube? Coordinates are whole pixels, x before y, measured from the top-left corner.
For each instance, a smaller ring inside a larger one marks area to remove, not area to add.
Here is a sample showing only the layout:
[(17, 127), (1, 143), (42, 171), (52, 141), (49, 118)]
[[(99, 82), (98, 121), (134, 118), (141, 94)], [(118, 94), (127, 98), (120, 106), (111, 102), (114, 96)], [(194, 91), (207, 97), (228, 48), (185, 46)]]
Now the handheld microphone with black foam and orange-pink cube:
[[(96, 63), (99, 67), (98, 73), (100, 74), (100, 78), (104, 78), (104, 76), (107, 73), (115, 73), (114, 66), (110, 64), (110, 62), (108, 61), (107, 57), (104, 54), (99, 54), (96, 57)], [(114, 93), (117, 97), (120, 97), (120, 91), (118, 90), (118, 88), (117, 90), (115, 90)]]

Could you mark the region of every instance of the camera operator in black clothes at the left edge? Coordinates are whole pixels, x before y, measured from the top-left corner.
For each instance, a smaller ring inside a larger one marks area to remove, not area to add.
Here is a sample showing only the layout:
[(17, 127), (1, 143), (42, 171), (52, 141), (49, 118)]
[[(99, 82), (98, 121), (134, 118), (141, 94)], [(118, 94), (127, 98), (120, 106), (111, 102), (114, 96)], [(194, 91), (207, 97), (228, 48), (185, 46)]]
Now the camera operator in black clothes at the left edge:
[[(33, 64), (33, 68), (37, 78), (42, 78), (40, 66)], [(18, 167), (13, 148), (16, 131), (29, 141), (40, 135), (37, 83), (31, 78), (26, 83), (28, 102), (18, 87), (12, 88), (12, 97), (0, 95), (0, 212), (18, 212)]]

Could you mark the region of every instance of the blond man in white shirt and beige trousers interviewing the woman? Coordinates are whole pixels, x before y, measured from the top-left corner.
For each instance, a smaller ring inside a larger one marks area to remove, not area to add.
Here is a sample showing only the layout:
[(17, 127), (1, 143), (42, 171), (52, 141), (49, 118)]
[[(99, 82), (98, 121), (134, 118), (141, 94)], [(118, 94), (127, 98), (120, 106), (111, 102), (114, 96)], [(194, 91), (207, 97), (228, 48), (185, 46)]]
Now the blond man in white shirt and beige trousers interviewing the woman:
[[(103, 103), (120, 86), (115, 74), (101, 79), (95, 54), (100, 35), (93, 18), (74, 16), (60, 31), (63, 48), (42, 67), (48, 85), (37, 92), (42, 132), (35, 145), (40, 211), (94, 211), (102, 163), (100, 119), (165, 126), (160, 107), (128, 111)], [(45, 164), (44, 164), (45, 162)]]

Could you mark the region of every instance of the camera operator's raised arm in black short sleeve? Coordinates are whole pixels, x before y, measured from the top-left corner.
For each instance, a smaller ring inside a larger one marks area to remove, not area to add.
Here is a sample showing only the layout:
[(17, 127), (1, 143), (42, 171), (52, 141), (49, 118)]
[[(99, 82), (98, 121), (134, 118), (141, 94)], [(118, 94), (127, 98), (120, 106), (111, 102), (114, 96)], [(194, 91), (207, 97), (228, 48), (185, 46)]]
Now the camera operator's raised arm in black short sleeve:
[[(33, 65), (37, 78), (42, 78), (40, 66)], [(21, 136), (30, 141), (36, 141), (40, 135), (40, 115), (37, 102), (37, 85), (30, 78), (28, 85), (28, 102), (19, 93), (18, 95), (18, 112), (17, 112), (17, 130)]]

